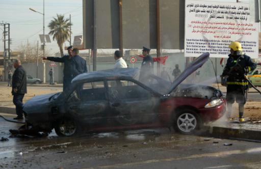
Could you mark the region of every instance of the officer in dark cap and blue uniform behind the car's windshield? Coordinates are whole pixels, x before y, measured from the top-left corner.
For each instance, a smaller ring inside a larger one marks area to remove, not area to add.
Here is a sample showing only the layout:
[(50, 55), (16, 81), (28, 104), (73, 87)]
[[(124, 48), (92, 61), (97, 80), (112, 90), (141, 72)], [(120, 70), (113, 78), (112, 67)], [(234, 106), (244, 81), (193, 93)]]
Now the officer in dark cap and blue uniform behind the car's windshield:
[(149, 74), (153, 74), (153, 58), (149, 55), (150, 49), (143, 47), (143, 61), (141, 63), (141, 71), (139, 80), (143, 83), (148, 82)]

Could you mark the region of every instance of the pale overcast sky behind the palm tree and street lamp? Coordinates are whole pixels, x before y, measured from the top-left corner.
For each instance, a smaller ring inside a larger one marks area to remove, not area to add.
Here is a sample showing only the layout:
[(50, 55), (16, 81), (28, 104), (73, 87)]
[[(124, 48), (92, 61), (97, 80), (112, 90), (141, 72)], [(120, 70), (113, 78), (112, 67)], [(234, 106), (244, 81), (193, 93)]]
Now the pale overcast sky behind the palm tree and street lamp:
[[(105, 0), (104, 0), (105, 1)], [(164, 0), (162, 0), (164, 1)], [(209, 0), (213, 1), (213, 0)], [(236, 0), (214, 0), (216, 2), (236, 2)], [(71, 14), (72, 22), (72, 42), (73, 36), (83, 35), (83, 1), (82, 0), (45, 0), (45, 34), (49, 32), (48, 23), (57, 14), (64, 14), (69, 18)], [(247, 3), (249, 0), (241, 0)], [(29, 8), (43, 12), (43, 0), (0, 0), (0, 23), (10, 23), (10, 38), (12, 51), (19, 50), (21, 44), (37, 43), (39, 34), (43, 33), (43, 16), (35, 13)], [(0, 51), (4, 49), (3, 28), (0, 25)], [(66, 43), (68, 46), (69, 43)], [(50, 54), (59, 52), (56, 42), (46, 44), (46, 50)]]

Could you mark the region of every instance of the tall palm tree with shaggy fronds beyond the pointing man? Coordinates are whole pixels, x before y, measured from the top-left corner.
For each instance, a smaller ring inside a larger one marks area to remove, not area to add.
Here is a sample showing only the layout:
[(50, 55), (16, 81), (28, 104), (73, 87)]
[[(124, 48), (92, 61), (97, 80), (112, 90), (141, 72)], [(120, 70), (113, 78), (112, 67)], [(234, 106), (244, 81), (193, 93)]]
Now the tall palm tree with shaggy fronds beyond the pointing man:
[(48, 27), (50, 28), (49, 35), (53, 36), (53, 40), (57, 41), (60, 48), (61, 57), (63, 57), (63, 44), (70, 36), (70, 26), (72, 24), (69, 19), (64, 19), (64, 15), (57, 14), (57, 18), (51, 20)]

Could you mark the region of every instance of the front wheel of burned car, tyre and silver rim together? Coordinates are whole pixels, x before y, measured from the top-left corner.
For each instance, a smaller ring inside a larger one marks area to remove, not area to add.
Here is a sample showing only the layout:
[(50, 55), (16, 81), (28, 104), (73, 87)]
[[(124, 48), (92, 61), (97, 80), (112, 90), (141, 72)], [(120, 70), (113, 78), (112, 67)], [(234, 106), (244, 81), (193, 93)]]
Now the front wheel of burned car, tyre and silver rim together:
[(174, 116), (173, 128), (182, 134), (194, 134), (200, 126), (200, 117), (194, 110), (179, 110)]

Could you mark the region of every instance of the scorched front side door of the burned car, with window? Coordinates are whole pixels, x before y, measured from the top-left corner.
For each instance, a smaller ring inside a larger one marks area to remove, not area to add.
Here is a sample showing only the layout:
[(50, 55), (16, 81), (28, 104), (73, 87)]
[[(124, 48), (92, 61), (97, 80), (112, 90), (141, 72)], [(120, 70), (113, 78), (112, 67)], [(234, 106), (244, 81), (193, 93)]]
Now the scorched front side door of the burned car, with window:
[(107, 82), (112, 116), (118, 124), (146, 124), (157, 120), (159, 96), (132, 81)]

